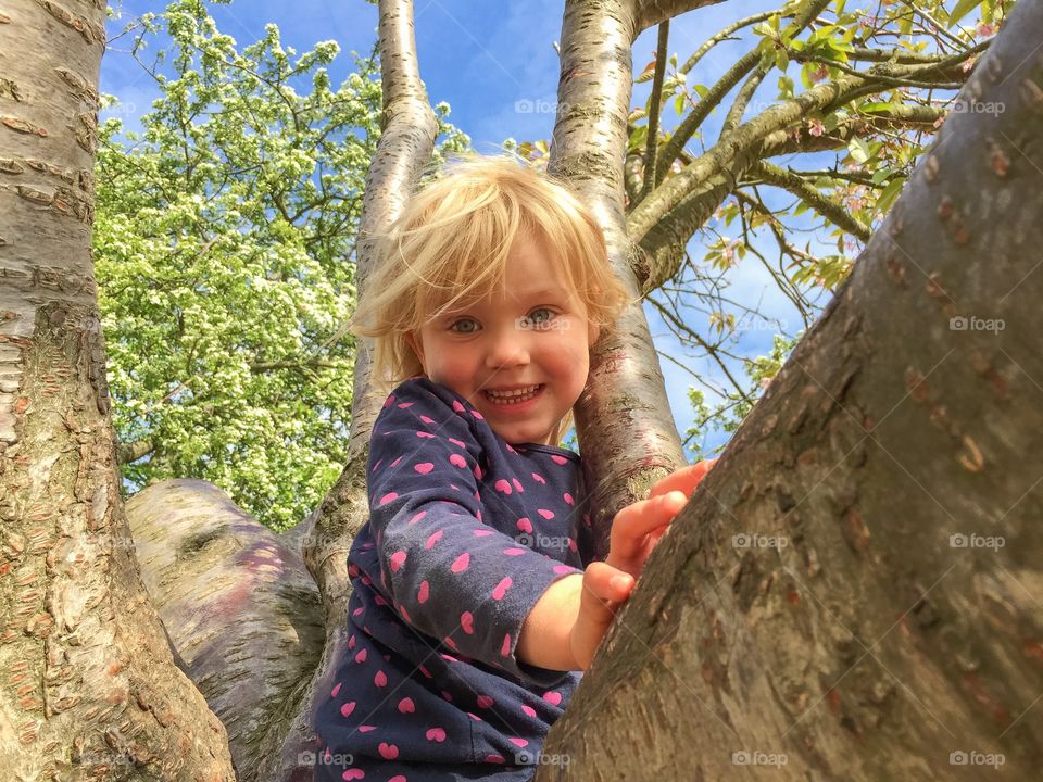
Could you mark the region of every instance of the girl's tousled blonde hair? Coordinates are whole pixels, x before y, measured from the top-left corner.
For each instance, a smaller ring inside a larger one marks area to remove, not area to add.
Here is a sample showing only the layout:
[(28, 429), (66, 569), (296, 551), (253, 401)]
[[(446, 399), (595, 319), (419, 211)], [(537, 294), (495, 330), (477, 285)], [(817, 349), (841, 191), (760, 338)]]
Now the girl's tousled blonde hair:
[[(386, 234), (373, 237), (374, 272), (350, 328), (374, 338), (370, 378), (378, 392), (424, 374), (409, 332), (457, 304), (505, 289), (507, 256), (519, 236), (554, 253), (599, 327), (640, 301), (608, 265), (593, 215), (562, 184), (506, 156), (460, 159), (414, 193)], [(571, 420), (569, 412), (558, 421), (555, 443)]]

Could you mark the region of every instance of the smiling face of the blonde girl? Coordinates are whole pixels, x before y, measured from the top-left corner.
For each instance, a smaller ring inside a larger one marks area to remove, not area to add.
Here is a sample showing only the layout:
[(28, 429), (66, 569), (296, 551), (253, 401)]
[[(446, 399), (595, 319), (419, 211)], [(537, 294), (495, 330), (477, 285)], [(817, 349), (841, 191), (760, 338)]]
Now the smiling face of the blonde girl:
[[(506, 293), (429, 319), (407, 335), (424, 374), (470, 402), (508, 443), (551, 442), (579, 399), (598, 327), (540, 242), (518, 237)], [(508, 399), (490, 391), (523, 391)]]

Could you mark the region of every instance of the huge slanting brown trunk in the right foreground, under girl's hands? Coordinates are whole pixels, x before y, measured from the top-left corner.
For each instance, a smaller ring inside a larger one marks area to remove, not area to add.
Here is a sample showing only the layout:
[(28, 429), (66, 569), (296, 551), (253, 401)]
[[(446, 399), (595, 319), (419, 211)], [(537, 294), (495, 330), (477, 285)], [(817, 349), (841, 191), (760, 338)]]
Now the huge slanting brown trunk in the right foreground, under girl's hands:
[(1038, 774), (1040, 40), (1019, 3), (962, 93), (1003, 109), (947, 119), (653, 553), (538, 781)]

